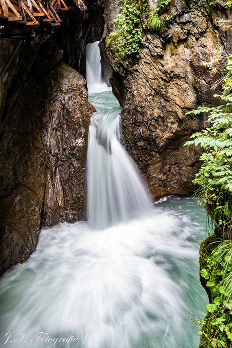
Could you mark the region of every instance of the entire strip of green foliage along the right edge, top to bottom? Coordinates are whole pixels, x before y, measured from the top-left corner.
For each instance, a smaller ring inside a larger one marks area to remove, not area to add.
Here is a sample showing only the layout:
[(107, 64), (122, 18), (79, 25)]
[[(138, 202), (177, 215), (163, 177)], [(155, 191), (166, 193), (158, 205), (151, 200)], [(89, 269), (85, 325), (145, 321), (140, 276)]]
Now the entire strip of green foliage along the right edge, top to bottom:
[[(220, 56), (221, 52), (217, 52), (208, 64), (216, 64)], [(216, 242), (211, 255), (205, 256), (207, 267), (201, 269), (212, 295), (212, 303), (206, 307), (209, 315), (201, 322), (204, 326), (199, 332), (205, 348), (232, 346), (232, 55), (227, 57), (226, 70), (224, 92), (216, 95), (222, 104), (188, 112), (208, 113), (209, 127), (192, 135), (194, 140), (185, 144), (201, 145), (205, 149), (201, 156), (203, 164), (193, 182), (200, 185), (197, 192), (200, 201), (222, 239)]]

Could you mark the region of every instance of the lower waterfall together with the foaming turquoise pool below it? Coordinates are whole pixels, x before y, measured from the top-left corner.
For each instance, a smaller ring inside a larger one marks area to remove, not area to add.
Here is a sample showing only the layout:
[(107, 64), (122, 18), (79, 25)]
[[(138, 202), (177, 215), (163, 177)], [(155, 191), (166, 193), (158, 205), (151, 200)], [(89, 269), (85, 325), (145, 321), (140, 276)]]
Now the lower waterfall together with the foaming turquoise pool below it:
[[(199, 330), (187, 314), (190, 310), (203, 319), (206, 313), (198, 264), (199, 243), (206, 236), (205, 212), (198, 210), (193, 198), (167, 198), (151, 207), (138, 171), (119, 143), (118, 102), (102, 88), (104, 92), (90, 97), (98, 111), (91, 123), (88, 153), (93, 156), (93, 162), (88, 158), (88, 172), (94, 168), (88, 173), (92, 185), (88, 195), (98, 186), (88, 196), (90, 205), (94, 201), (89, 207), (92, 220), (90, 225), (63, 223), (42, 229), (36, 252), (1, 278), (0, 344), (197, 348)], [(118, 160), (115, 166), (113, 158)], [(125, 165), (129, 171), (124, 171)], [(120, 173), (123, 180), (117, 179)], [(137, 192), (131, 180), (136, 181)], [(115, 186), (129, 197), (126, 203)], [(100, 188), (105, 190), (103, 197)], [(108, 192), (118, 202), (114, 217)], [(141, 204), (140, 211), (137, 203), (132, 206), (133, 200)], [(104, 211), (106, 202), (109, 207)], [(118, 207), (121, 202), (125, 215)], [(103, 211), (99, 219), (94, 206)], [(99, 229), (101, 224), (109, 227)]]

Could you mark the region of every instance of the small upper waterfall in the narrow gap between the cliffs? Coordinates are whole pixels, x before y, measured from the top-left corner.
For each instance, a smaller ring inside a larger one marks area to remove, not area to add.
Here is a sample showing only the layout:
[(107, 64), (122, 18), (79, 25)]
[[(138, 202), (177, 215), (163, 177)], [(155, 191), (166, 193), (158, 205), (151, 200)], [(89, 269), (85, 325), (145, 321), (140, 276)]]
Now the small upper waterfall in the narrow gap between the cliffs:
[(111, 90), (111, 87), (107, 87), (101, 78), (101, 56), (98, 44), (99, 41), (86, 45), (86, 81), (89, 94)]

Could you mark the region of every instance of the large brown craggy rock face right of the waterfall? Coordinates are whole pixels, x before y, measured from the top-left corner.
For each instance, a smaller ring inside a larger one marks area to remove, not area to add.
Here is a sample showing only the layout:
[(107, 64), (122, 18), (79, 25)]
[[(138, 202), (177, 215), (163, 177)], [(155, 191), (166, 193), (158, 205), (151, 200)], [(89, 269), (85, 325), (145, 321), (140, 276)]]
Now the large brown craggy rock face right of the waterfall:
[[(133, 67), (127, 69), (121, 61), (124, 74), (117, 71), (107, 51), (113, 68), (112, 90), (124, 106), (125, 146), (155, 198), (189, 195), (196, 189), (192, 180), (202, 150), (183, 145), (205, 127), (206, 115), (185, 113), (199, 105), (217, 104), (213, 95), (220, 93), (221, 86), (211, 87), (222, 75), (212, 73), (203, 62), (212, 59), (212, 51), (230, 53), (232, 42), (230, 30), (215, 25), (216, 16), (225, 18), (230, 13), (212, 13), (205, 1), (175, 9), (165, 34), (144, 33), (140, 59)], [(108, 25), (112, 26), (110, 21)]]

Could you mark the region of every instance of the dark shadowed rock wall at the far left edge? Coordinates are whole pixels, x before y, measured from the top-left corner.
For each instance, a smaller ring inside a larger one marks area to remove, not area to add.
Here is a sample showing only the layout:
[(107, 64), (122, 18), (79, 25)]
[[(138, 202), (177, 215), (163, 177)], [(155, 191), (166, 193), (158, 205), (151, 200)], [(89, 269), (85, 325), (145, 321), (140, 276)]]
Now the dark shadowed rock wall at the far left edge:
[[(17, 43), (1, 40), (1, 67), (7, 63)], [(30, 44), (21, 43), (9, 69), (0, 79), (1, 273), (16, 261), (27, 259), (38, 243), (46, 172), (41, 133), (43, 100), (37, 89), (38, 81), (30, 79), (28, 61), (23, 54), (25, 50), (28, 58), (31, 57), (30, 49), (36, 44), (37, 39)]]

